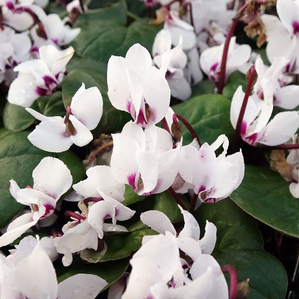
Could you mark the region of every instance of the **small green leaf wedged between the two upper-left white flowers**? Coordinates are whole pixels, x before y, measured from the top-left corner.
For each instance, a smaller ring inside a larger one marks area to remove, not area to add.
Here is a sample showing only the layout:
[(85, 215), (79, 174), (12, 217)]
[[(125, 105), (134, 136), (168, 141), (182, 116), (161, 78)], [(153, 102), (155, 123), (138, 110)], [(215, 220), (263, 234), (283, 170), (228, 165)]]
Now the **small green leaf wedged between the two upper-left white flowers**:
[(56, 91), (47, 97), (37, 99), (40, 112), (45, 116), (65, 116), (65, 108), (62, 101), (62, 91)]

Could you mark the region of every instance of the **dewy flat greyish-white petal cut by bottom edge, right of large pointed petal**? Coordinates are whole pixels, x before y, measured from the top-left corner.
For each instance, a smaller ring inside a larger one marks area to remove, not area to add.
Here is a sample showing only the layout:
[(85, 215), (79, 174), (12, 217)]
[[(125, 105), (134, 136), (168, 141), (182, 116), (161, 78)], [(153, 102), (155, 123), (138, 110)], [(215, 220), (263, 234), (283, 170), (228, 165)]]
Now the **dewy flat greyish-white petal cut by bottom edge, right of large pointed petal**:
[(93, 274), (76, 274), (58, 285), (57, 299), (94, 299), (108, 283)]

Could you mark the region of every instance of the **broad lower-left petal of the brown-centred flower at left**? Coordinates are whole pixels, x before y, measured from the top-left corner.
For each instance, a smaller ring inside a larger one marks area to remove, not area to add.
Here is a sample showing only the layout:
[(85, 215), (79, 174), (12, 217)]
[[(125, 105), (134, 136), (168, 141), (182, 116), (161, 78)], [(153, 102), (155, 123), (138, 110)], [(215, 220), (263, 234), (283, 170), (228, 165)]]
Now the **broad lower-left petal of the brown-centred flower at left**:
[(65, 129), (62, 119), (42, 121), (28, 135), (28, 139), (34, 146), (47, 152), (64, 152), (73, 144), (71, 138), (65, 136)]

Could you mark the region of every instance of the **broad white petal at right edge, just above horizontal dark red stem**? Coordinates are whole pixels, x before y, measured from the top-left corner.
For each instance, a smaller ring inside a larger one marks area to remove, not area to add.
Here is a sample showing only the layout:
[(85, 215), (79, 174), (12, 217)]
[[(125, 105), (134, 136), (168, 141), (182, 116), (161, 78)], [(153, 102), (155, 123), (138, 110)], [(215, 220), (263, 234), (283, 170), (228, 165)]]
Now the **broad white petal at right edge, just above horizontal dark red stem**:
[(270, 146), (283, 144), (296, 133), (298, 127), (298, 111), (280, 112), (268, 123), (258, 142)]

